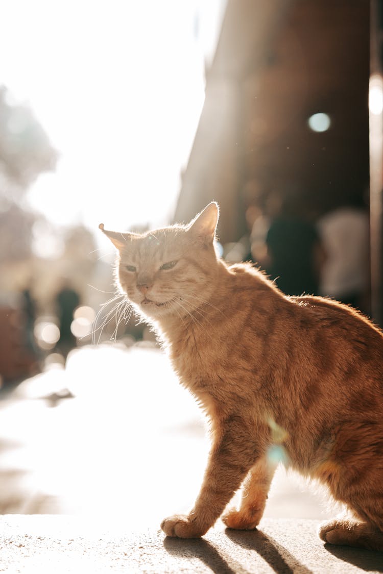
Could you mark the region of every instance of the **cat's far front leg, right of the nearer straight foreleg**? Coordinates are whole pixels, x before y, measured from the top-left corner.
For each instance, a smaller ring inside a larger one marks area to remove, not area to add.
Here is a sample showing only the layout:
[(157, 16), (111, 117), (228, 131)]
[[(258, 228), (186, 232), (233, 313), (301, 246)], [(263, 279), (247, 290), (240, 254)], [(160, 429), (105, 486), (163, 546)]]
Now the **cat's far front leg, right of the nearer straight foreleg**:
[(275, 469), (276, 464), (271, 463), (266, 456), (254, 464), (243, 483), (239, 510), (233, 508), (222, 517), (228, 528), (253, 530), (258, 526)]

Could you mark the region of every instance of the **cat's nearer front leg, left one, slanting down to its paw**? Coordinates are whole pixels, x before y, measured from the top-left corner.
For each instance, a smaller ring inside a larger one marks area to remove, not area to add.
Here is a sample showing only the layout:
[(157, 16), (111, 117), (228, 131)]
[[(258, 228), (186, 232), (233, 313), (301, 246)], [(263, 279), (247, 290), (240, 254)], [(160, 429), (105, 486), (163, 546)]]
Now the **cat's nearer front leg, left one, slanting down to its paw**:
[(238, 428), (226, 429), (215, 441), (194, 509), (187, 516), (166, 518), (161, 528), (167, 536), (198, 538), (214, 525), (260, 456), (254, 440), (244, 435)]

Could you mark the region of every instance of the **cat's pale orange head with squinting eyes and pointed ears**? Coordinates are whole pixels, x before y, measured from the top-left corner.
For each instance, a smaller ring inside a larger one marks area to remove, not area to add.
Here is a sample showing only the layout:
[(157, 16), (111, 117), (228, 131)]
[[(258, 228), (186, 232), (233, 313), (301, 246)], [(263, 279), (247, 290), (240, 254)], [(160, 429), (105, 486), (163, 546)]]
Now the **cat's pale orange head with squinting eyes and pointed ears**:
[(214, 289), (218, 204), (212, 202), (188, 225), (144, 234), (107, 231), (117, 249), (118, 288), (150, 319), (183, 317), (200, 307)]

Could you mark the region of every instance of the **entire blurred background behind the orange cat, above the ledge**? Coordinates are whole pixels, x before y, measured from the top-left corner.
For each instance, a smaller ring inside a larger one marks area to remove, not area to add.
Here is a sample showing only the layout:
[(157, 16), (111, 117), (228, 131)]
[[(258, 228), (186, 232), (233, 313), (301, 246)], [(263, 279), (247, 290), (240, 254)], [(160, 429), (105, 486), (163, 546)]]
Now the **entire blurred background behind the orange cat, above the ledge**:
[[(227, 261), (383, 325), (382, 10), (1, 3), (0, 513), (147, 523), (198, 492), (202, 418), (118, 307), (100, 222), (140, 231), (217, 200)], [(326, 513), (278, 472), (266, 513)]]

